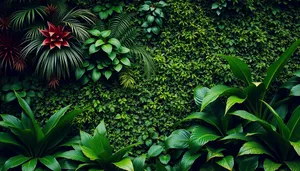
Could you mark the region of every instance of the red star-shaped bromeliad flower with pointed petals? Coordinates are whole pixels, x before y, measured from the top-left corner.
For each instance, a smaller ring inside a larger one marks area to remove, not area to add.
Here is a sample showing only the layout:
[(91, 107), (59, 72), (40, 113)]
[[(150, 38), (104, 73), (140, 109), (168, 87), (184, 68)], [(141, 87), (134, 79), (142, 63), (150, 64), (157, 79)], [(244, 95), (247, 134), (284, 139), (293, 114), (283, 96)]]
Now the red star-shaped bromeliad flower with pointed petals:
[(50, 45), (50, 49), (55, 48), (55, 46), (59, 49), (61, 48), (61, 46), (70, 47), (67, 40), (72, 37), (70, 35), (71, 32), (67, 32), (64, 29), (65, 27), (55, 26), (52, 23), (48, 22), (48, 29), (39, 30), (46, 37), (42, 45)]

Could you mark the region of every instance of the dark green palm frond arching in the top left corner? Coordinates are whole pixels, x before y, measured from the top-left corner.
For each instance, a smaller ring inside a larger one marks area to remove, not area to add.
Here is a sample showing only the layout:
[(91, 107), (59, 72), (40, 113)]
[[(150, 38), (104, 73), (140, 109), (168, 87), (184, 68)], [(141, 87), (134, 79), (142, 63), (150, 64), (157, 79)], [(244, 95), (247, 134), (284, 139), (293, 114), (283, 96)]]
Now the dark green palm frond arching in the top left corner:
[(25, 25), (31, 25), (37, 18), (44, 20), (46, 16), (45, 6), (23, 9), (12, 14), (11, 25), (15, 29), (24, 28)]

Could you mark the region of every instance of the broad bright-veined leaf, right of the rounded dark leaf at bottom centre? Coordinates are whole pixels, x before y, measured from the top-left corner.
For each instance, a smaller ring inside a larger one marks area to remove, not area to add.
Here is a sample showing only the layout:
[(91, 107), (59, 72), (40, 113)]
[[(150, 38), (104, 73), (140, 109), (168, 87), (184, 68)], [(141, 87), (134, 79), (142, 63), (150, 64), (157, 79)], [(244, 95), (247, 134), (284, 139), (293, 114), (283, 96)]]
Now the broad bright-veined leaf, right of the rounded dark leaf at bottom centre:
[(215, 131), (199, 125), (192, 130), (190, 138), (190, 149), (196, 152), (206, 143), (214, 141), (219, 137), (220, 136)]

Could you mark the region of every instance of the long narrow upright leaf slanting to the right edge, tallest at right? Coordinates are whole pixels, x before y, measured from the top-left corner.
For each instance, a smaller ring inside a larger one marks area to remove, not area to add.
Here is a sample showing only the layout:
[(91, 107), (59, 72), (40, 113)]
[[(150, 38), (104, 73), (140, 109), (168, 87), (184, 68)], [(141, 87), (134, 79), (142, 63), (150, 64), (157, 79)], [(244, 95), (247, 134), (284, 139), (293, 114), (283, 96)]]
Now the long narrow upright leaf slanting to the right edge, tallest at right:
[(296, 51), (298, 46), (300, 45), (300, 39), (294, 42), (280, 57), (277, 61), (275, 61), (267, 71), (267, 76), (264, 79), (264, 83), (266, 88), (268, 89), (271, 82), (279, 75), (284, 65), (288, 62), (290, 57)]

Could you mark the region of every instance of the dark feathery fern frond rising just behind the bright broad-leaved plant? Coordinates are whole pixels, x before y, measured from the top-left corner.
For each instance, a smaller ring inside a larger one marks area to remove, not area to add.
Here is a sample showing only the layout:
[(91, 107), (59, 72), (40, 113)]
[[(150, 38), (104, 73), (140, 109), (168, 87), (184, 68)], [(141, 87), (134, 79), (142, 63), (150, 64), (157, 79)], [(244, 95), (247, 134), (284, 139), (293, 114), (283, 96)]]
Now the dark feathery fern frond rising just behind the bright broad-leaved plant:
[(121, 38), (123, 34), (133, 25), (132, 14), (119, 14), (113, 17), (109, 23), (109, 30), (112, 31), (111, 36), (117, 39)]

